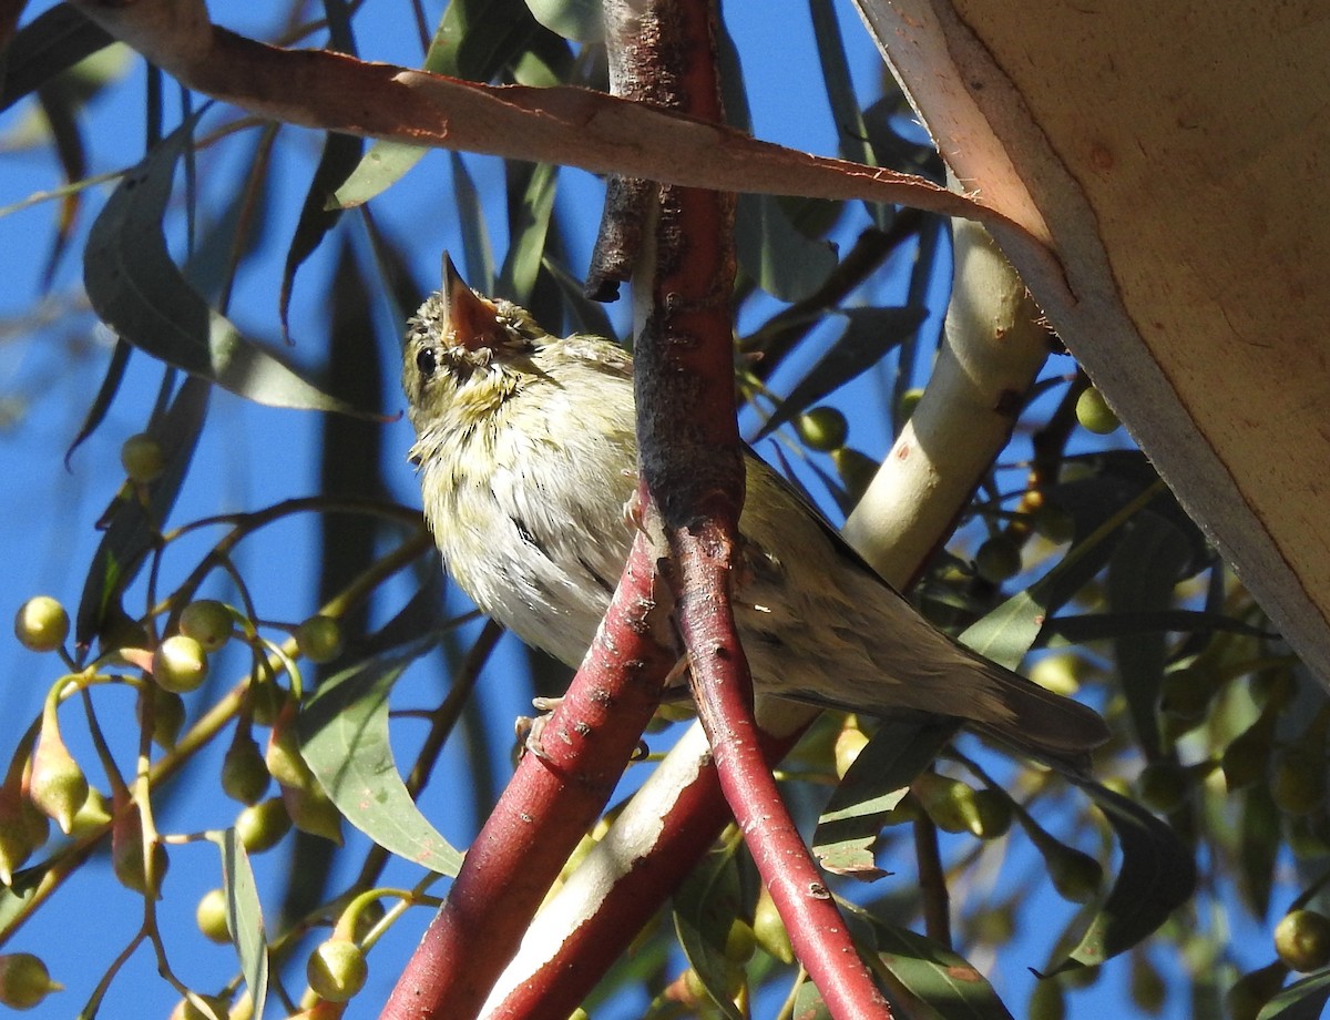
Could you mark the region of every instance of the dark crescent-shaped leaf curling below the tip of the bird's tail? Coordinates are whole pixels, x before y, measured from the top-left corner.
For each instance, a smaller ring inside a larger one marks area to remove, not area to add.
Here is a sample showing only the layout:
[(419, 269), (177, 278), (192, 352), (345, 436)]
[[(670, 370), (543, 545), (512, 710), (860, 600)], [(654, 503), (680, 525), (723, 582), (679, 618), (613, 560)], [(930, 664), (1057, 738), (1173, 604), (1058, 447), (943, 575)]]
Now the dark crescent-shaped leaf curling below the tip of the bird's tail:
[(1097, 967), (1132, 948), (1196, 890), (1196, 862), (1165, 822), (1099, 783), (1075, 777), (1069, 781), (1095, 801), (1113, 827), (1123, 864), (1108, 899), (1089, 911), (1080, 943), (1049, 976), (1076, 967)]

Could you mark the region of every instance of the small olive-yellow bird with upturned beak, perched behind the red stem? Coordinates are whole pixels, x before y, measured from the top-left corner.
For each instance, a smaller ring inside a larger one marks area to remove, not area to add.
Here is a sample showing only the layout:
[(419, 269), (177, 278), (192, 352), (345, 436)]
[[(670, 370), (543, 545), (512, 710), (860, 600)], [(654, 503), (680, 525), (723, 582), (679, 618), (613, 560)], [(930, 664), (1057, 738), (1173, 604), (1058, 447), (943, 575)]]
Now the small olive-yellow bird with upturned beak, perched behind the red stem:
[[(577, 665), (618, 582), (637, 487), (633, 364), (601, 336), (553, 336), (481, 297), (444, 257), (403, 367), (424, 513), (475, 604)], [(930, 625), (749, 452), (733, 596), (755, 690), (878, 717), (951, 715), (1036, 757), (1108, 737), (1089, 707)]]

